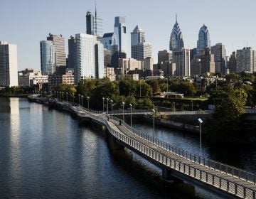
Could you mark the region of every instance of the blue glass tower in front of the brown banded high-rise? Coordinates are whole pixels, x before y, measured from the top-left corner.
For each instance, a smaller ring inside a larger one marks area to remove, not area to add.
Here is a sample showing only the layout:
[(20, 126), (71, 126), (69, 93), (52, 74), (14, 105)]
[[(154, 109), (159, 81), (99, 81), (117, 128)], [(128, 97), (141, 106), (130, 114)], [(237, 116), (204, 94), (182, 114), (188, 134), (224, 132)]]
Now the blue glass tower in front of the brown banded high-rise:
[(41, 71), (43, 75), (53, 75), (55, 72), (55, 46), (53, 41), (41, 41)]

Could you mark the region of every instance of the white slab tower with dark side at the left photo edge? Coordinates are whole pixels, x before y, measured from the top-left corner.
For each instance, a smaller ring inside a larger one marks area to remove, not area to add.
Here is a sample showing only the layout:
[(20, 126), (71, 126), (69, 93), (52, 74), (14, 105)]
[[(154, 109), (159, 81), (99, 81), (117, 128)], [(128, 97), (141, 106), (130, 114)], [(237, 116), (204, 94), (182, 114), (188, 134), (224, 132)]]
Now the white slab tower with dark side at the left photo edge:
[(0, 41), (0, 86), (18, 86), (17, 45)]

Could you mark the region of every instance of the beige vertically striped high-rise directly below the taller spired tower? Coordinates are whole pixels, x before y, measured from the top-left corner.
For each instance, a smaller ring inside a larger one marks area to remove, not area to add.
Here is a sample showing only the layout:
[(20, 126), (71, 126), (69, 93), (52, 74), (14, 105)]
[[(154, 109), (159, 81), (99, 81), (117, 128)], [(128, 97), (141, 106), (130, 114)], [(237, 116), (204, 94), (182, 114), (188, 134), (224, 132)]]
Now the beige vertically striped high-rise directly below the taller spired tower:
[(176, 63), (176, 75), (179, 77), (190, 76), (190, 50), (182, 48), (174, 50), (174, 63)]

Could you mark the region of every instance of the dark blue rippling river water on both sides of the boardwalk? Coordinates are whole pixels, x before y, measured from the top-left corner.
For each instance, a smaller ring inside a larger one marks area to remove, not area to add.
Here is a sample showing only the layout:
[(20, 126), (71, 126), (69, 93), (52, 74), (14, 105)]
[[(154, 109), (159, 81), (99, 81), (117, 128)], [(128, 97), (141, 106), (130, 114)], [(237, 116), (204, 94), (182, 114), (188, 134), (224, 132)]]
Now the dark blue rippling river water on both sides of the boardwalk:
[[(149, 124), (134, 124), (151, 134)], [(155, 135), (193, 153), (198, 139), (156, 127)], [(255, 151), (234, 158), (203, 145), (203, 154), (255, 169)], [(228, 160), (227, 160), (228, 159)], [(236, 160), (236, 161), (235, 161)], [(0, 98), (0, 198), (218, 198), (188, 183), (167, 183), (159, 168), (128, 149), (111, 151), (105, 134), (69, 114)]]

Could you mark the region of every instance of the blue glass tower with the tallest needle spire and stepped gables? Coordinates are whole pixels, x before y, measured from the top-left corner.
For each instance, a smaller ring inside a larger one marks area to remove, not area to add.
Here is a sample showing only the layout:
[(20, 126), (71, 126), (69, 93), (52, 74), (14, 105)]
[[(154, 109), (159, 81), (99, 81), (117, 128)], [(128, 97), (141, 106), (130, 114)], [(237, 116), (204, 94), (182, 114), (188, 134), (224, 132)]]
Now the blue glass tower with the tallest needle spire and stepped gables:
[(178, 26), (176, 15), (176, 23), (174, 24), (174, 28), (171, 31), (170, 50), (181, 50), (181, 48), (184, 48), (184, 42), (181, 28)]

